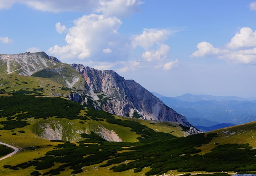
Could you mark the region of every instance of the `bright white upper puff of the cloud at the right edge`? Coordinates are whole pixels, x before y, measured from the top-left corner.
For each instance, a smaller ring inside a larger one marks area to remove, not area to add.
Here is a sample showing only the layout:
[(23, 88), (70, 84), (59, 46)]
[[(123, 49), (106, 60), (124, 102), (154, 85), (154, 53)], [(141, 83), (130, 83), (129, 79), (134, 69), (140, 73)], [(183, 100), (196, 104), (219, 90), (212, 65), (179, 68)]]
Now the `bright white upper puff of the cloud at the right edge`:
[(256, 31), (252, 31), (250, 27), (243, 27), (229, 43), (227, 47), (231, 49), (256, 47)]

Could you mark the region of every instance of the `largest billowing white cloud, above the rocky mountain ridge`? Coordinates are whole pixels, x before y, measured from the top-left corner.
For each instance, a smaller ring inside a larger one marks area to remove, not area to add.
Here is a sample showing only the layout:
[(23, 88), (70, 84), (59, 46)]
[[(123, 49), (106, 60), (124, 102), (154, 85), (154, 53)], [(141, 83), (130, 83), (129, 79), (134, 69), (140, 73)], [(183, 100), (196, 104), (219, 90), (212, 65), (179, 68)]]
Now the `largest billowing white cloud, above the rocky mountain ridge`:
[(55, 45), (48, 52), (61, 59), (76, 57), (86, 59), (99, 55), (106, 46), (124, 49), (125, 43), (122, 43), (117, 32), (121, 24), (121, 20), (116, 17), (96, 14), (83, 15), (74, 21), (73, 27), (67, 30), (68, 34), (65, 39), (67, 45), (62, 47)]

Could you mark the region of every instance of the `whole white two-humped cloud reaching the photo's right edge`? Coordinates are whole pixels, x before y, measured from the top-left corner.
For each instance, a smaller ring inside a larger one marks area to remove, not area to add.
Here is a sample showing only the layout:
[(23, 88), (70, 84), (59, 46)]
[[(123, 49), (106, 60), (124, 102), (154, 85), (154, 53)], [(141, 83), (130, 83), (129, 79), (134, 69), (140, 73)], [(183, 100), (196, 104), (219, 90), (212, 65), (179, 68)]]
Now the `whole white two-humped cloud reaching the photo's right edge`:
[(243, 27), (222, 49), (215, 48), (208, 42), (197, 44), (197, 51), (191, 57), (216, 56), (232, 63), (256, 63), (256, 32)]

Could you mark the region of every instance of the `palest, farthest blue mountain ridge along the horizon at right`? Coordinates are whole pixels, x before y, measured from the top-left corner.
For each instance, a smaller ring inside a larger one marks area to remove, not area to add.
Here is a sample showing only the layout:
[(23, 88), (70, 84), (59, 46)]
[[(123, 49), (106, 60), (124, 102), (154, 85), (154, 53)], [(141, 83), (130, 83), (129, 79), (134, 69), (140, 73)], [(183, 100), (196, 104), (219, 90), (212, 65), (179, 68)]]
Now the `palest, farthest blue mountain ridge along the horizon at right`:
[(187, 101), (187, 102), (195, 102), (195, 101), (228, 101), (228, 100), (237, 100), (237, 101), (246, 101), (246, 99), (240, 98), (238, 96), (213, 96), (213, 95), (192, 95), (192, 94), (184, 94), (181, 96), (174, 97), (180, 101)]

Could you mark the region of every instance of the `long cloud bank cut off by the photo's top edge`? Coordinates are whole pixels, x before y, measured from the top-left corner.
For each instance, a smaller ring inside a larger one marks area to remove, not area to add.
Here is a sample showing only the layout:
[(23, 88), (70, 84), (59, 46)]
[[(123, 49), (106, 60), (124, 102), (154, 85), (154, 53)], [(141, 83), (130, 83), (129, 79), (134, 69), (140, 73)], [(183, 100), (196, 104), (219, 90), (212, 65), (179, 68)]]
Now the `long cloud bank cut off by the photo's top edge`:
[(31, 8), (48, 12), (71, 12), (79, 11), (86, 13), (103, 13), (123, 17), (132, 12), (138, 12), (143, 4), (140, 0), (1, 0), (1, 8), (10, 8), (19, 2)]

